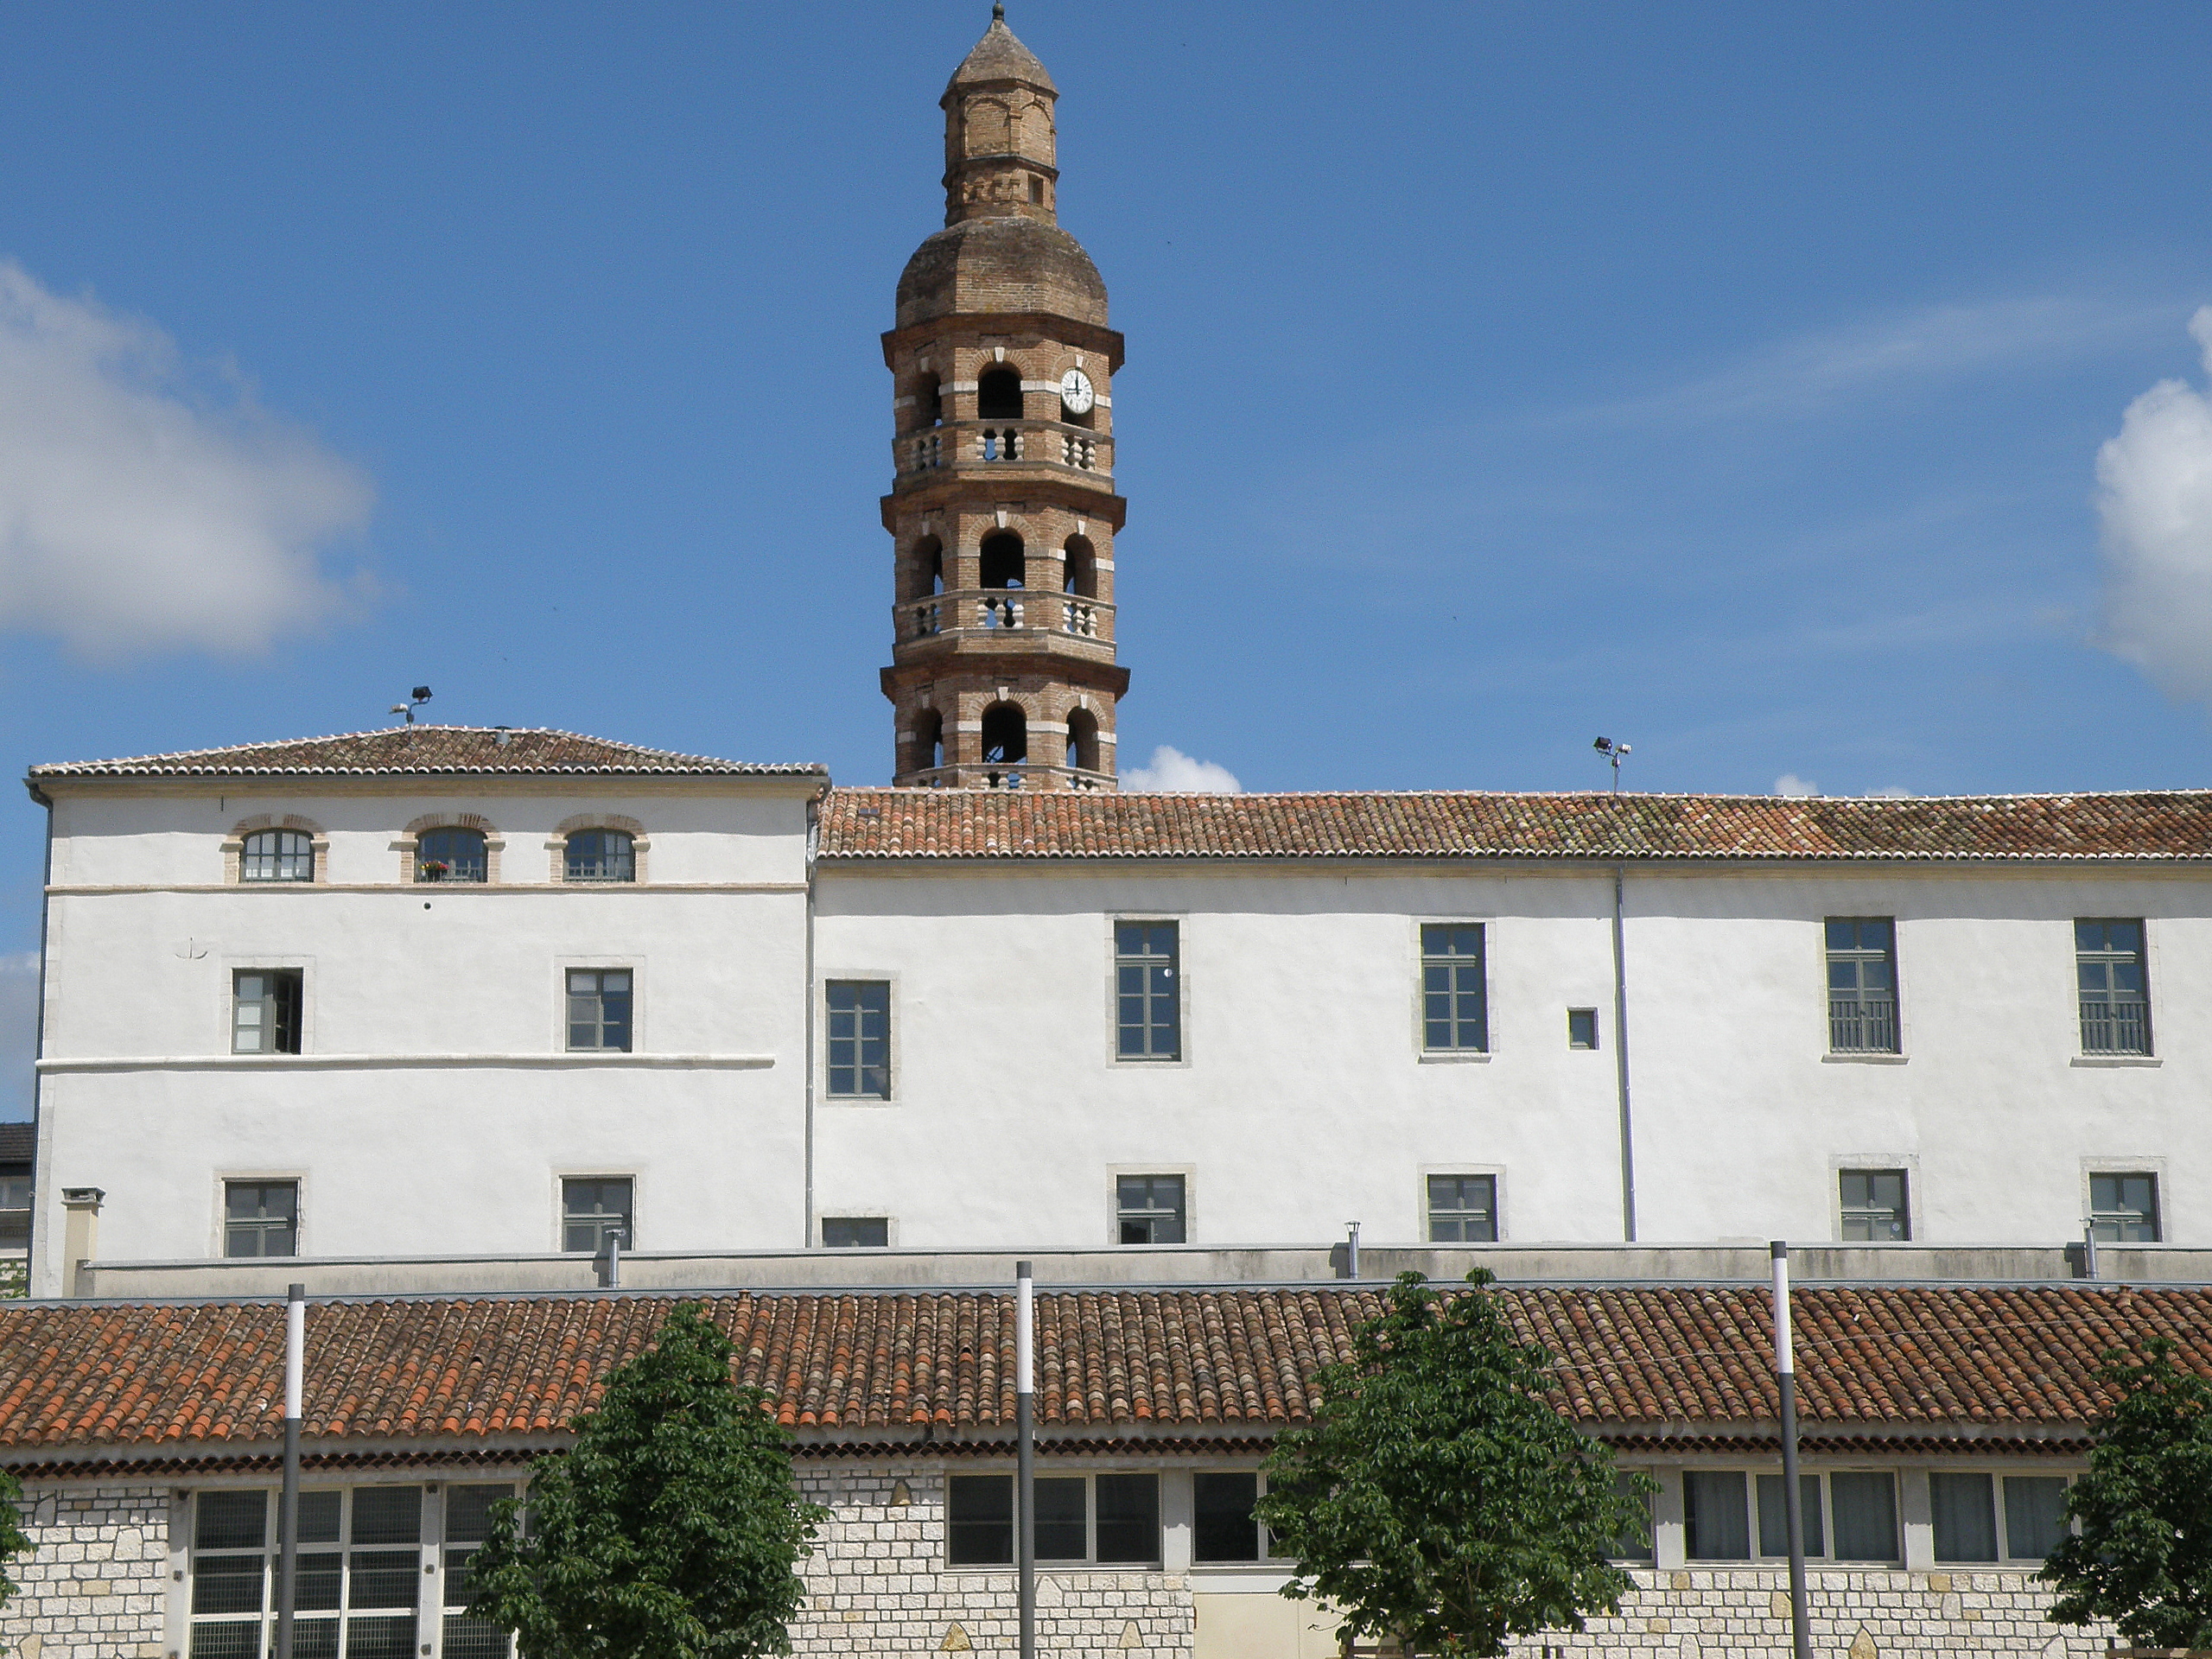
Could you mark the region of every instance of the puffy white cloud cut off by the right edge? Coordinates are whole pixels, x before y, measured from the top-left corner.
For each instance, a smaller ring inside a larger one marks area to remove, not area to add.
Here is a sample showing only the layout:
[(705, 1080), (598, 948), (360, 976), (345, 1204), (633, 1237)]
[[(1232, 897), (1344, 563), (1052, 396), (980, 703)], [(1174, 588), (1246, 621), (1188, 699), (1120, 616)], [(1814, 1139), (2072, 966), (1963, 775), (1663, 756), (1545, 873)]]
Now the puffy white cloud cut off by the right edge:
[[(2212, 305), (2190, 319), (2212, 374)], [(2159, 380), (2097, 451), (2099, 644), (2172, 697), (2212, 699), (2212, 400)]]

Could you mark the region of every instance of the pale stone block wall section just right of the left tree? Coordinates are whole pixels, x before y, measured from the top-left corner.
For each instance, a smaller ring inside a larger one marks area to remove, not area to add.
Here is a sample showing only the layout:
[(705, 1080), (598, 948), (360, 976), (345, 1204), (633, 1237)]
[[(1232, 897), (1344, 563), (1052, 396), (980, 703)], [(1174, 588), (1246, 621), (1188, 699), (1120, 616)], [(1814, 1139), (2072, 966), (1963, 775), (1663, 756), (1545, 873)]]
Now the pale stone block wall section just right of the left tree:
[[(896, 1486), (905, 1484), (905, 1493)], [(945, 1473), (927, 1467), (812, 1469), (799, 1489), (830, 1511), (805, 1562), (807, 1608), (792, 1652), (1011, 1652), (1020, 1604), (1011, 1571), (945, 1568)], [(905, 1495), (907, 1502), (894, 1502)], [(1188, 1659), (1183, 1575), (1037, 1573), (1037, 1648), (1055, 1659)]]

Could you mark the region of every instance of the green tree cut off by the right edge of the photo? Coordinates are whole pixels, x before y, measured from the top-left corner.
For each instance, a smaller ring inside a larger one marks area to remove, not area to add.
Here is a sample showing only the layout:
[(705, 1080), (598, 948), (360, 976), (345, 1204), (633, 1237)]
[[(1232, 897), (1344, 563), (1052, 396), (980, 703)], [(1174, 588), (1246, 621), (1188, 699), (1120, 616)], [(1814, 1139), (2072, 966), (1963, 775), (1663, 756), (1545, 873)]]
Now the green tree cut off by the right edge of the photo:
[(2146, 1356), (2112, 1349), (2097, 1380), (2088, 1475), (2066, 1493), (2079, 1531), (2044, 1571), (2055, 1624), (2112, 1619), (2146, 1648), (2212, 1646), (2212, 1380), (2183, 1371), (2163, 1336)]

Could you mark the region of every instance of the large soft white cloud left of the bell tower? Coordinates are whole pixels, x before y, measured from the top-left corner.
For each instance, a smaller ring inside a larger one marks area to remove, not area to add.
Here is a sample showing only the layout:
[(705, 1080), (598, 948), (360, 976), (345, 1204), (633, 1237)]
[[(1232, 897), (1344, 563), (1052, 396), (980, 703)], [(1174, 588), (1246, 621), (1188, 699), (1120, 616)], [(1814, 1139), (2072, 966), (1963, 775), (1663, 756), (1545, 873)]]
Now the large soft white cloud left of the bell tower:
[(332, 615), (369, 484), (153, 323), (0, 259), (0, 628), (86, 657), (250, 653)]

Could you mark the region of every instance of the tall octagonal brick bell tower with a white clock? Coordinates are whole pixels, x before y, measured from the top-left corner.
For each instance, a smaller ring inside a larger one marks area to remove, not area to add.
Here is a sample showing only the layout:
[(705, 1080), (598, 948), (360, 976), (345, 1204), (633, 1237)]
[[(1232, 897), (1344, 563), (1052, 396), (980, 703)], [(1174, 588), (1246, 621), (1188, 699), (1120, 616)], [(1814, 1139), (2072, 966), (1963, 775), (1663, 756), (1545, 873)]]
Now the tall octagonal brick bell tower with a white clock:
[(907, 261), (883, 336), (896, 783), (1115, 787), (1121, 336), (1097, 265), (1053, 212), (1057, 97), (991, 7), (942, 97), (945, 230)]

